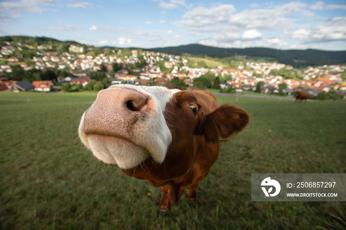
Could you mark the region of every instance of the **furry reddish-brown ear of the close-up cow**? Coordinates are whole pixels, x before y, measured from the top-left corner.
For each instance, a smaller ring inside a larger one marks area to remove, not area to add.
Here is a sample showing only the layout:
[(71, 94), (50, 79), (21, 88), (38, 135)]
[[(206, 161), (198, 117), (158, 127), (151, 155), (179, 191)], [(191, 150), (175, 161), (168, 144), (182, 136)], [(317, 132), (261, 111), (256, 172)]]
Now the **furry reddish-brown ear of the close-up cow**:
[(227, 139), (249, 123), (249, 114), (236, 106), (222, 105), (211, 114), (198, 115), (195, 135), (205, 135), (207, 141)]

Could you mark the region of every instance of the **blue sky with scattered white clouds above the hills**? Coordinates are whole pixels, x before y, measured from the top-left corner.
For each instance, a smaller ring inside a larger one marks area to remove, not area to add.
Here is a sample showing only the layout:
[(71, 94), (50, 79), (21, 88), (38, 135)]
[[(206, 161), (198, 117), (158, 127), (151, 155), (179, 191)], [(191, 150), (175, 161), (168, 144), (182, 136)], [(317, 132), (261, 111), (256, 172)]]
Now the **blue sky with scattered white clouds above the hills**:
[(346, 50), (346, 0), (0, 0), (0, 36), (95, 46)]

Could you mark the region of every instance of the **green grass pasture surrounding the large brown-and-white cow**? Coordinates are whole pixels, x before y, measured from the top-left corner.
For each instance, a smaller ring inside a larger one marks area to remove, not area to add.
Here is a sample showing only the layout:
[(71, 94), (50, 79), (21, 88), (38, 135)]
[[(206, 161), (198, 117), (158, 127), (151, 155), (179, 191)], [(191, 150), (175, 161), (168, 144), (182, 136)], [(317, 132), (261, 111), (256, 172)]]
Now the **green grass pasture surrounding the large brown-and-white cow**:
[(0, 93), (0, 229), (345, 228), (345, 202), (251, 201), (251, 173), (345, 173), (345, 102), (217, 97), (248, 111), (250, 124), (222, 144), (197, 201), (186, 191), (160, 216), (160, 189), (80, 144), (79, 119), (95, 97)]

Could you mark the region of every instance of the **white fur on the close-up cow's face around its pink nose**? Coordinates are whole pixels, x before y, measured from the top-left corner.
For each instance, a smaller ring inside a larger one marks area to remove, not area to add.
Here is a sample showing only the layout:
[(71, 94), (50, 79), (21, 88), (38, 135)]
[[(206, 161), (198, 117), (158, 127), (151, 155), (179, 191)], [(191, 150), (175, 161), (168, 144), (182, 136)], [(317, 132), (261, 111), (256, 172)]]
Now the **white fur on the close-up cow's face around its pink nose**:
[(180, 90), (134, 85), (114, 85), (109, 89), (117, 87), (130, 88), (150, 98), (151, 111), (146, 113), (147, 119), (136, 122), (131, 128), (130, 136), (126, 138), (128, 140), (124, 140), (112, 136), (84, 134), (86, 112), (79, 127), (81, 141), (99, 160), (108, 164), (117, 164), (123, 169), (135, 167), (149, 156), (155, 162), (162, 163), (172, 142), (172, 134), (166, 124), (164, 112), (173, 94)]

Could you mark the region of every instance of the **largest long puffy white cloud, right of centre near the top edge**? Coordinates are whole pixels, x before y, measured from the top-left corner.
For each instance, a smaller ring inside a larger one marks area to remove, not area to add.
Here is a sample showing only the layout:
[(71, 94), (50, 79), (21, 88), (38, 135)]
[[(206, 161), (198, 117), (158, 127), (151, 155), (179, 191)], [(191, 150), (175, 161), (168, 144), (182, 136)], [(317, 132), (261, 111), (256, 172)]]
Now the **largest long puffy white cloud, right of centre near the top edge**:
[(188, 27), (188, 30), (196, 28), (212, 28), (222, 26), (229, 30), (244, 31), (256, 30), (281, 30), (296, 26), (292, 15), (304, 17), (313, 16), (313, 12), (305, 10), (306, 4), (294, 1), (277, 6), (267, 6), (262, 9), (247, 9), (239, 13), (230, 4), (216, 7), (197, 7), (185, 12), (183, 20), (175, 21), (175, 26)]

